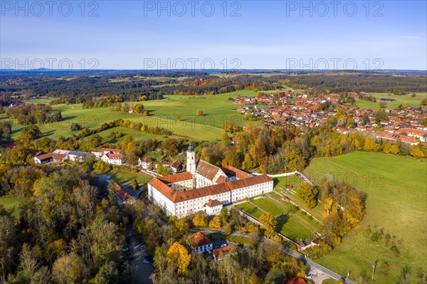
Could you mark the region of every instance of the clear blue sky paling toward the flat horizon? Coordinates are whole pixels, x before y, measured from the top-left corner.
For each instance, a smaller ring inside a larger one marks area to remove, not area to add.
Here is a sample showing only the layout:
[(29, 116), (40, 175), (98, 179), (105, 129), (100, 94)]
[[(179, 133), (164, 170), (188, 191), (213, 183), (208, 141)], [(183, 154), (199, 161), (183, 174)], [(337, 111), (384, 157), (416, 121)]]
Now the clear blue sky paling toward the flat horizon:
[(427, 1), (195, 2), (1, 1), (2, 68), (427, 69)]

